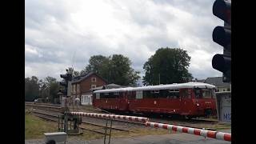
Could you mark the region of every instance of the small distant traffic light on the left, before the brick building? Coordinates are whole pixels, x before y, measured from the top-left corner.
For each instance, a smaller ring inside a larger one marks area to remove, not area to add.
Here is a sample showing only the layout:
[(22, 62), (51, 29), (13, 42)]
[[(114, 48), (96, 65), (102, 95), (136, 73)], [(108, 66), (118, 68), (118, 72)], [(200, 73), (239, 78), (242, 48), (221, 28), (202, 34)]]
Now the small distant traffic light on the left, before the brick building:
[(71, 89), (71, 81), (72, 81), (72, 74), (66, 73), (66, 74), (60, 74), (61, 78), (64, 80), (62, 82), (59, 82), (61, 86), (64, 87), (64, 89), (58, 90), (58, 94), (63, 94), (66, 97), (70, 96), (70, 89)]

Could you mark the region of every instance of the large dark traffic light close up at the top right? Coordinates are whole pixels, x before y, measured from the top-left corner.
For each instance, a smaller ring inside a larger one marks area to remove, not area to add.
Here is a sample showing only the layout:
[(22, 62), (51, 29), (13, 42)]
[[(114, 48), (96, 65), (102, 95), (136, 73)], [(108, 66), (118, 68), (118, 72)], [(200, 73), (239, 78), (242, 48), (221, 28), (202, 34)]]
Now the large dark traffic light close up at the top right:
[(215, 54), (212, 66), (223, 74), (223, 82), (231, 82), (231, 1), (216, 0), (213, 14), (224, 21), (224, 26), (216, 26), (213, 41), (223, 46), (223, 54)]

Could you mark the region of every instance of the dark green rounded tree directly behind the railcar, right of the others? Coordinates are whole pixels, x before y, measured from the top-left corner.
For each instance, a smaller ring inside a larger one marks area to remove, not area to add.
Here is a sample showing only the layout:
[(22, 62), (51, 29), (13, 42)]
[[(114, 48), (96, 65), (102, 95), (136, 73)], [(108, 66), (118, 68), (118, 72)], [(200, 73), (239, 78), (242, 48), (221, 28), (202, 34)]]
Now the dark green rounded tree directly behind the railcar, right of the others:
[(144, 85), (190, 82), (193, 77), (188, 72), (190, 56), (179, 48), (160, 48), (145, 62)]

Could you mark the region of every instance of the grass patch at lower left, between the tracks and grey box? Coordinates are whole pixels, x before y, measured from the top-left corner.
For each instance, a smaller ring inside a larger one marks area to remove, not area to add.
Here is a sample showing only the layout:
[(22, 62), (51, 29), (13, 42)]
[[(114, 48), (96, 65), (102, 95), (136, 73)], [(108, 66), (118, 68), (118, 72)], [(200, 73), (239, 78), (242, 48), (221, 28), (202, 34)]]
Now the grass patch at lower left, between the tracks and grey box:
[(25, 113), (25, 139), (44, 138), (44, 133), (58, 131), (58, 123), (44, 121), (30, 113)]

